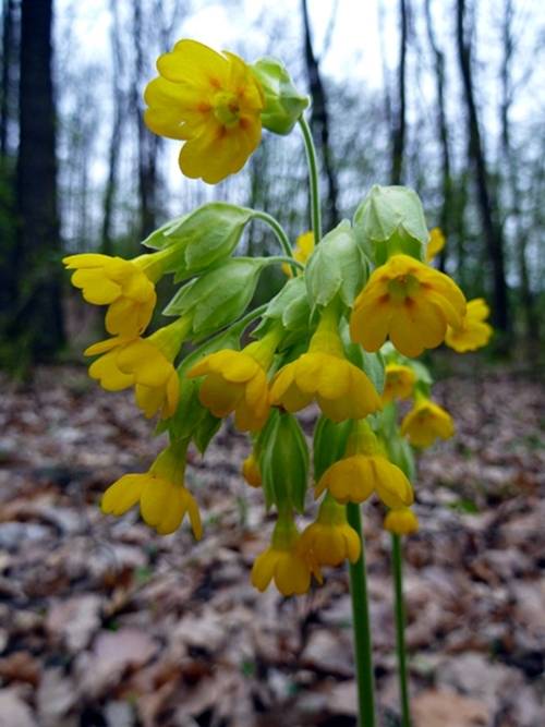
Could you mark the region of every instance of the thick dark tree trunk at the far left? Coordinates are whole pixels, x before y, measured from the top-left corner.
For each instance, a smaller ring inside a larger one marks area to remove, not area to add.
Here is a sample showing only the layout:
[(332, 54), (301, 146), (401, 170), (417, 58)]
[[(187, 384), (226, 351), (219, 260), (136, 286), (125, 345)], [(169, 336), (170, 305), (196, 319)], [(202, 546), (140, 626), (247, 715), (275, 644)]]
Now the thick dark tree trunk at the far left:
[(51, 359), (64, 341), (51, 21), (52, 0), (23, 0), (14, 334), (24, 338), (33, 361)]

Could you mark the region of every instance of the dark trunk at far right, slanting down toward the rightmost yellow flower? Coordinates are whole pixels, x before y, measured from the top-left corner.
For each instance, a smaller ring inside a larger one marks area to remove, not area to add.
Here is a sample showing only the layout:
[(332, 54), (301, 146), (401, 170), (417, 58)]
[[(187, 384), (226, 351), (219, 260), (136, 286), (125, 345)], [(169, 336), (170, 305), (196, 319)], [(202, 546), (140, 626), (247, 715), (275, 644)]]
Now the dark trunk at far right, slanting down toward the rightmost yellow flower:
[(470, 157), (475, 170), (477, 205), (483, 227), (488, 259), (493, 267), (494, 310), (493, 319), (497, 328), (508, 330), (508, 300), (504, 259), (504, 240), (496, 220), (496, 201), (488, 184), (486, 161), (479, 126), (479, 117), (473, 92), (471, 66), (471, 43), (465, 34), (465, 0), (457, 0), (458, 61), (462, 76), (464, 101), (468, 111)]

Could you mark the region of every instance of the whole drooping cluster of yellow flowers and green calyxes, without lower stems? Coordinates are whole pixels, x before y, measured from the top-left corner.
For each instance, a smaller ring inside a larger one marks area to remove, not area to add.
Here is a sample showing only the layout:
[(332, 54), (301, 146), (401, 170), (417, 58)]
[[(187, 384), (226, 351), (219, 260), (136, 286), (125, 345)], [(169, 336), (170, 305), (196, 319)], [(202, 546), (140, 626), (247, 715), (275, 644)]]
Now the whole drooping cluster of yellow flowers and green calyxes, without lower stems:
[[(293, 249), (265, 210), (214, 202), (153, 232), (143, 241), (147, 252), (133, 259), (64, 258), (84, 299), (106, 308), (108, 337), (85, 351), (93, 358), (89, 375), (109, 391), (134, 389), (144, 415), (158, 416), (157, 431), (168, 437), (148, 472), (114, 482), (101, 508), (122, 516), (138, 507), (160, 534), (174, 532), (187, 516), (201, 538), (199, 493), (184, 480), (186, 452), (194, 446), (205, 455), (232, 415), (252, 439), (244, 478), (263, 489), (276, 517), (251, 581), (259, 591), (274, 583), (283, 595), (302, 594), (322, 582), (325, 568), (361, 557), (361, 537), (348, 518), (354, 504), (378, 498), (387, 530), (405, 535), (417, 529), (413, 452), (455, 429), (414, 358), (444, 342), (457, 351), (486, 343), (487, 307), (482, 300), (467, 304), (456, 282), (433, 266), (440, 234), (431, 238), (409, 189), (374, 186), (352, 220), (322, 238), (303, 116), (308, 99), (279, 61), (249, 64), (181, 40), (157, 69), (144, 94), (145, 122), (181, 143), (186, 177), (215, 184), (244, 167), (264, 130), (280, 136), (302, 131), (313, 230)], [(237, 255), (251, 223), (270, 227), (279, 255)], [(282, 266), (284, 283), (251, 308), (270, 265)], [(179, 288), (160, 318), (155, 288), (164, 276), (173, 276)], [(153, 318), (162, 323), (149, 330)], [(402, 420), (400, 400), (411, 402)], [(311, 405), (319, 412), (312, 449), (296, 419)]]

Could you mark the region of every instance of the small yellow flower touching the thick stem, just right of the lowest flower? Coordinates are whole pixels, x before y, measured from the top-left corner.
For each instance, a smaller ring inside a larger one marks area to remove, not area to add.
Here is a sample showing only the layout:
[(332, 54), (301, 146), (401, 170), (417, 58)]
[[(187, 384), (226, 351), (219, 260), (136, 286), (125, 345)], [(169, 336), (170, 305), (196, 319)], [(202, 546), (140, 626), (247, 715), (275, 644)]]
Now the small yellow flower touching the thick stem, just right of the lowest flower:
[(301, 534), (299, 548), (318, 566), (339, 566), (347, 558), (355, 562), (362, 549), (358, 533), (347, 522), (346, 507), (327, 496), (316, 522)]

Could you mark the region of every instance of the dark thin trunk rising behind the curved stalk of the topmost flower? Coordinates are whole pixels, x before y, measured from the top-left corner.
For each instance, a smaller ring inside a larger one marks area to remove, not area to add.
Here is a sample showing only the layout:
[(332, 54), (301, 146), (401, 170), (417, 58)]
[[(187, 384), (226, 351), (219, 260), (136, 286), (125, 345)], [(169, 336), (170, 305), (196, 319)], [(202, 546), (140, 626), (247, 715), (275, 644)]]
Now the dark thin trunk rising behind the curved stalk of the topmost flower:
[(303, 12), (306, 74), (313, 100), (311, 128), (314, 137), (318, 141), (324, 171), (327, 178), (327, 231), (339, 222), (339, 184), (337, 182), (337, 172), (334, 167), (331, 147), (329, 144), (329, 116), (327, 112), (326, 90), (319, 72), (319, 63), (314, 54), (312, 46), (311, 22), (308, 20), (306, 0), (301, 0), (301, 8)]

